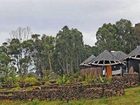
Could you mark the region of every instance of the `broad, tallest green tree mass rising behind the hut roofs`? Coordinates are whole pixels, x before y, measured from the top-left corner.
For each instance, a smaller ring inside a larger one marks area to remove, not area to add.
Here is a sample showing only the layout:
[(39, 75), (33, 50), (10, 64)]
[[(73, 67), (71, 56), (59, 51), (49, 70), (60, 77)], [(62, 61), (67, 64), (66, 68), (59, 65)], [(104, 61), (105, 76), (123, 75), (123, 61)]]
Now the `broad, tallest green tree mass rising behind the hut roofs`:
[(100, 51), (122, 50), (129, 53), (138, 43), (132, 23), (126, 19), (121, 19), (115, 24), (104, 24), (98, 29), (96, 38), (96, 46)]

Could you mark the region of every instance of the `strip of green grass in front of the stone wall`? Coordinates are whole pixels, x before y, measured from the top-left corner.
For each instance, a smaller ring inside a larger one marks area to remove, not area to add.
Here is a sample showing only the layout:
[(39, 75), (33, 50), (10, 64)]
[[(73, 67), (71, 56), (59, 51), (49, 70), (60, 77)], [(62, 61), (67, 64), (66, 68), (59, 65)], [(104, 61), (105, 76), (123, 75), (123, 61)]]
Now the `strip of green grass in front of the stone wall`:
[(0, 101), (0, 105), (140, 105), (140, 87), (126, 89), (124, 96), (94, 100), (62, 101)]

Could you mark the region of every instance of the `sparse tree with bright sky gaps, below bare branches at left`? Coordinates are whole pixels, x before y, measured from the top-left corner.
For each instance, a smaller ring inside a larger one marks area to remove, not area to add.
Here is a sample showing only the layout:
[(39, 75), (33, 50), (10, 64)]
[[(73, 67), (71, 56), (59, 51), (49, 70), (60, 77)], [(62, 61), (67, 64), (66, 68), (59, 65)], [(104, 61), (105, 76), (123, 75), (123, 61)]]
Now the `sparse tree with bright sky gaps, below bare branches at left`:
[(17, 68), (20, 76), (28, 74), (31, 61), (32, 40), (26, 40), (22, 43), (19, 39), (12, 39), (8, 46), (8, 54), (11, 57), (11, 65)]

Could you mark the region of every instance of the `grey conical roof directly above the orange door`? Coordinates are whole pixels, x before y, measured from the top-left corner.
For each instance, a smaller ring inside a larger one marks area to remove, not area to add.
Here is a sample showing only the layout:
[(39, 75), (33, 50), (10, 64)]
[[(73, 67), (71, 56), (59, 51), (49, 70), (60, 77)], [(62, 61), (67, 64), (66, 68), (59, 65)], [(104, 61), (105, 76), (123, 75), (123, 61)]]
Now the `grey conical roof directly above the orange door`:
[(94, 61), (91, 63), (92, 65), (115, 65), (121, 63), (119, 59), (114, 56), (111, 52), (105, 50), (101, 54), (99, 54)]

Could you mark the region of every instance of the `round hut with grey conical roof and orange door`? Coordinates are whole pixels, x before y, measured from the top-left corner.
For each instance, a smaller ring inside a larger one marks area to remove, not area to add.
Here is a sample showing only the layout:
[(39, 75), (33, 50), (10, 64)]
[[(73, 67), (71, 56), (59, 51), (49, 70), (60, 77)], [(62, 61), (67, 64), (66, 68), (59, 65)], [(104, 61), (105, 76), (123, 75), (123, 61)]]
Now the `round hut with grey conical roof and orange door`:
[(120, 59), (122, 59), (120, 52), (112, 53), (105, 50), (91, 62), (91, 65), (102, 67), (103, 75), (122, 75), (123, 62)]

